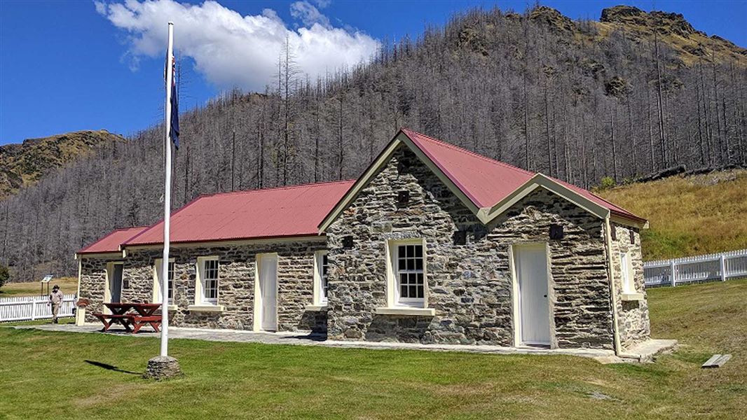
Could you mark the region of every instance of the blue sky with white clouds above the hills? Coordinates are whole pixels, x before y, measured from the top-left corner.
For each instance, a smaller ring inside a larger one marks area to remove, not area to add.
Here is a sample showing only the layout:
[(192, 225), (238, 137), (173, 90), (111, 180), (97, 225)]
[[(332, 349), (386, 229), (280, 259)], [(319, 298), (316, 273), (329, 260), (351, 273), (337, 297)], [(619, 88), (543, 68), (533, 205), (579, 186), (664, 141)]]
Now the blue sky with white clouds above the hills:
[[(542, 4), (572, 18), (598, 19), (604, 7), (622, 2)], [(196, 7), (160, 4), (164, 7), (143, 8), (133, 16), (133, 10), (115, 7), (116, 2), (1, 0), (0, 144), (85, 129), (127, 135), (158, 122), (164, 95), (161, 20), (167, 15), (177, 24), (177, 46), (186, 55), (185, 110), (227, 87), (261, 90), (270, 71), (267, 63), (276, 57), (273, 48), (286, 31), (299, 43), (300, 63), (319, 74), (330, 64), (357, 62), (385, 37), (417, 36), (425, 25), (441, 25), (459, 10), (494, 5), (524, 10), (533, 1), (190, 3)], [(747, 46), (747, 0), (626, 4), (683, 13), (696, 29)], [(223, 30), (214, 28), (220, 25)], [(241, 30), (255, 38), (242, 40), (235, 25), (244, 25)], [(320, 50), (321, 41), (339, 51)], [(249, 44), (253, 50), (246, 48)]]

